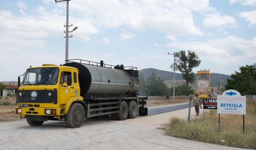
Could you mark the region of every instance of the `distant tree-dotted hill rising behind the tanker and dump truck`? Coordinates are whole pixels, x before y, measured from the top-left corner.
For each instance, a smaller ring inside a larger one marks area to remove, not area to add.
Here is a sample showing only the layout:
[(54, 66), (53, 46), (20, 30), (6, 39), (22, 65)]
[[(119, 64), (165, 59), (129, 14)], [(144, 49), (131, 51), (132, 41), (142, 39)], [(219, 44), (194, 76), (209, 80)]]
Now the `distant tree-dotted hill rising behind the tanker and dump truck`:
[[(146, 68), (146, 69), (142, 69), (139, 72), (144, 74), (144, 77), (148, 77), (152, 72), (154, 71), (154, 73), (156, 74), (156, 76), (159, 76), (162, 80), (164, 80), (164, 82), (166, 83), (167, 86), (172, 87), (172, 81), (173, 81), (173, 72), (169, 72), (169, 71), (164, 71), (164, 70), (158, 70), (158, 69), (154, 69), (154, 68)], [(195, 79), (196, 79), (196, 73), (194, 73)], [(210, 73), (210, 86), (212, 87), (216, 87), (218, 86), (218, 82), (220, 81), (220, 76), (218, 73)], [(221, 85), (224, 86), (227, 84), (227, 79), (230, 79), (231, 77), (229, 75), (225, 75), (222, 74), (221, 79), (223, 80), (221, 82)], [(180, 73), (176, 73), (175, 72), (175, 80), (176, 80), (176, 84), (182, 84), (185, 83), (185, 80), (182, 77), (182, 74)], [(195, 82), (194, 84), (190, 84), (190, 86), (194, 87), (195, 86)]]

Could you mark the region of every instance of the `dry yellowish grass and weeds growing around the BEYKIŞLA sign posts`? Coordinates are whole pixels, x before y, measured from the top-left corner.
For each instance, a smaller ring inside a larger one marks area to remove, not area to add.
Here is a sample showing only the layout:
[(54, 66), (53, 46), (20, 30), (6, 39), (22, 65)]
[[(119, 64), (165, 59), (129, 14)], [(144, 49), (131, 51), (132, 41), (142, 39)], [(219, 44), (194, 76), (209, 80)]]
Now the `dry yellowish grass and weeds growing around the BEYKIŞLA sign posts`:
[(171, 118), (166, 125), (166, 134), (188, 140), (256, 149), (256, 102), (246, 101), (245, 134), (242, 115), (220, 114), (219, 128), (216, 110), (205, 113), (205, 120), (199, 117), (188, 122)]

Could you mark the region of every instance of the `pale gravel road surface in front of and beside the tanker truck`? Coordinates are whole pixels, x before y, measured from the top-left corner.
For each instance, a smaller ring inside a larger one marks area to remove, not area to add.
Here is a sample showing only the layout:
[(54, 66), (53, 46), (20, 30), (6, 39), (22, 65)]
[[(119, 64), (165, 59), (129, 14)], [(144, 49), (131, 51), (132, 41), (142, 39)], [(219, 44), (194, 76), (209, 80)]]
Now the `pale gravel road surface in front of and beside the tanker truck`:
[[(162, 128), (172, 116), (186, 119), (188, 108), (124, 121), (86, 119), (82, 127), (75, 129), (56, 121), (47, 121), (42, 126), (29, 126), (24, 120), (0, 122), (0, 149), (241, 150), (166, 136)], [(195, 117), (191, 109), (191, 118)]]

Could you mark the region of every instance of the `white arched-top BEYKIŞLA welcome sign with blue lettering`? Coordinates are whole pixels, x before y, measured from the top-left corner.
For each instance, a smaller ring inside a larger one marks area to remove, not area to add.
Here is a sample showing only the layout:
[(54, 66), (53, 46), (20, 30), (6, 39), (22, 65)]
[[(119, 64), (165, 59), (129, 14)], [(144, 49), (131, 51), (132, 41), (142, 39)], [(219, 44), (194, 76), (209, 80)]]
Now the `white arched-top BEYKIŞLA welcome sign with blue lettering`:
[(246, 114), (246, 96), (236, 90), (226, 90), (217, 96), (218, 114)]

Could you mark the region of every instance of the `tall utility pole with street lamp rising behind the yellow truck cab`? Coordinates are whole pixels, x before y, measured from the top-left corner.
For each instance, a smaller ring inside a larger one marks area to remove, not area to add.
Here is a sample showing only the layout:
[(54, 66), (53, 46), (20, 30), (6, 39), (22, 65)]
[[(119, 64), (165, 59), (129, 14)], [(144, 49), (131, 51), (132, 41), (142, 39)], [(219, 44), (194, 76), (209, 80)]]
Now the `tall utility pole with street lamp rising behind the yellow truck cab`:
[[(55, 3), (58, 2), (67, 2), (67, 10), (66, 10), (66, 25), (64, 25), (64, 27), (66, 27), (66, 31), (64, 31), (64, 33), (66, 33), (66, 36), (64, 36), (64, 38), (66, 38), (66, 53), (65, 53), (65, 60), (68, 60), (68, 38), (72, 38), (73, 36), (68, 36), (69, 32), (73, 32), (74, 30), (76, 30), (78, 27), (76, 26), (75, 28), (73, 28), (73, 30), (68, 31), (68, 27), (73, 26), (73, 24), (68, 25), (68, 4), (70, 0), (55, 0)], [(65, 61), (65, 63), (68, 63), (68, 61)]]

